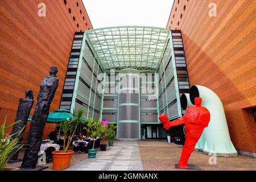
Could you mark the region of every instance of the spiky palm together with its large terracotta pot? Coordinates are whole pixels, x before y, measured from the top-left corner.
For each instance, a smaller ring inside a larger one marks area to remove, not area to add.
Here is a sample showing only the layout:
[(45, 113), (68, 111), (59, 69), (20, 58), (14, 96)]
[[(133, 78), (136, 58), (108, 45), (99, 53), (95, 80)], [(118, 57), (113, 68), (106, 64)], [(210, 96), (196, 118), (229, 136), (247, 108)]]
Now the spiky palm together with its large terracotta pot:
[[(84, 117), (85, 110), (73, 110), (73, 118), (59, 123), (60, 129), (63, 131), (64, 147), (63, 150), (53, 151), (53, 169), (67, 169), (71, 161), (73, 150), (68, 150), (72, 139), (79, 125), (85, 124), (87, 119)], [(68, 135), (69, 134), (69, 135)], [(67, 144), (66, 144), (67, 143)]]

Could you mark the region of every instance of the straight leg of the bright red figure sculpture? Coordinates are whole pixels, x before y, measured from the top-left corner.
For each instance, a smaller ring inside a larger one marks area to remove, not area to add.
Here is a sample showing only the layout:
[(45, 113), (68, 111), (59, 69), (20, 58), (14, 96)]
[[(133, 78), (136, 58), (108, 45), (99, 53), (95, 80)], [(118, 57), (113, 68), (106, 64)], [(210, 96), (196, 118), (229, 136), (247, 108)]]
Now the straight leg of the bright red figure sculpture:
[(199, 129), (196, 131), (196, 135), (195, 133), (191, 133), (189, 131), (187, 131), (187, 137), (185, 140), (185, 144), (183, 146), (182, 152), (181, 152), (181, 156), (180, 156), (180, 162), (178, 164), (179, 167), (182, 168), (187, 168), (187, 163), (188, 163), (188, 159), (190, 157), (190, 155), (192, 154), (197, 141), (200, 139), (201, 134), (203, 133), (203, 129)]

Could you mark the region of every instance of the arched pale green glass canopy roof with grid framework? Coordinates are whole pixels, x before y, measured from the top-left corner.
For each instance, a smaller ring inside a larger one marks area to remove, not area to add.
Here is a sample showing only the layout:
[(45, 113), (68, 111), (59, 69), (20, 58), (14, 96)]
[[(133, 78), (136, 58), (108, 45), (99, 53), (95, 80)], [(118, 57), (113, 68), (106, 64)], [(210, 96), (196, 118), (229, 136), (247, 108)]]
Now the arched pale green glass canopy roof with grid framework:
[(105, 70), (156, 69), (166, 48), (170, 30), (158, 27), (106, 27), (85, 31), (94, 56)]

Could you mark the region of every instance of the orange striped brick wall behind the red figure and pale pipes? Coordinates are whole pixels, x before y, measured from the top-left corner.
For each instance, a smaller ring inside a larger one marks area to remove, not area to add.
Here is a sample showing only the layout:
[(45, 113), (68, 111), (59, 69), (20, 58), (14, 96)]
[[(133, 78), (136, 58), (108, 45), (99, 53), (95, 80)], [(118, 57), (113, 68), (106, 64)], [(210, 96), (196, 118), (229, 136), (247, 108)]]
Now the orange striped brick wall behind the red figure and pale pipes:
[[(209, 16), (210, 3), (217, 16)], [(248, 152), (256, 152), (255, 7), (253, 0), (175, 0), (167, 24), (182, 32), (190, 84), (221, 98), (232, 142)]]

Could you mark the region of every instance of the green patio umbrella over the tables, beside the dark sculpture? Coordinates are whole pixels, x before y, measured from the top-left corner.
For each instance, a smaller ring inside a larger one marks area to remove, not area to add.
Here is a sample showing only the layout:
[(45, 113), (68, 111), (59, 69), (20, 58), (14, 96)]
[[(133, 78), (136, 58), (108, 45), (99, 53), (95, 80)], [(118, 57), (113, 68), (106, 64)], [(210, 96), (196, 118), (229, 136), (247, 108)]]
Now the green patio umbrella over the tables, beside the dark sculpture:
[[(65, 109), (56, 109), (53, 112), (49, 113), (46, 122), (61, 122), (71, 118), (73, 118), (73, 114), (71, 114), (70, 111)], [(32, 115), (28, 117), (28, 121), (31, 121), (31, 119)]]

